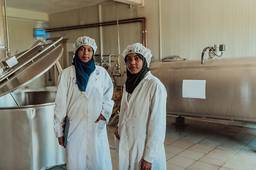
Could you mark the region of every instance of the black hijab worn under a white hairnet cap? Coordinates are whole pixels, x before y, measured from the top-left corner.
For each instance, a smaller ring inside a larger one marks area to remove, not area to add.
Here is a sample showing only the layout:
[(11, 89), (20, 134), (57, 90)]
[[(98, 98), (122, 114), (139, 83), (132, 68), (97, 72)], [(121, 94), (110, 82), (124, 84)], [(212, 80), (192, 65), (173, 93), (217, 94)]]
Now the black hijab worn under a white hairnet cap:
[[(136, 53), (136, 54), (142, 59), (143, 65), (142, 65), (141, 71), (139, 71), (137, 74), (132, 74), (131, 72), (129, 72), (129, 69), (127, 69), (127, 81), (125, 81), (125, 87), (126, 87), (126, 91), (129, 94), (132, 94), (132, 92), (137, 87), (139, 82), (142, 81), (146, 73), (149, 72), (146, 58), (139, 53)], [(127, 56), (124, 58), (125, 62), (126, 62), (126, 59), (127, 59)]]

